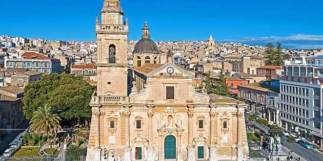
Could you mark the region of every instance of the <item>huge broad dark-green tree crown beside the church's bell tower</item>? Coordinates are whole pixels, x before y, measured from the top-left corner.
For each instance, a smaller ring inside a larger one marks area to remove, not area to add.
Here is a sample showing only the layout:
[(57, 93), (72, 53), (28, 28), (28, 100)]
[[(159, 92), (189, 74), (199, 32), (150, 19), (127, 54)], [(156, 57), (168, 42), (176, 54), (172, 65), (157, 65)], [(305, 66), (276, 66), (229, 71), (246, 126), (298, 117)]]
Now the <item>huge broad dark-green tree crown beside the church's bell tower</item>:
[(89, 102), (95, 90), (83, 77), (72, 74), (49, 74), (29, 83), (24, 91), (24, 114), (28, 120), (38, 107), (49, 106), (60, 118), (90, 118)]

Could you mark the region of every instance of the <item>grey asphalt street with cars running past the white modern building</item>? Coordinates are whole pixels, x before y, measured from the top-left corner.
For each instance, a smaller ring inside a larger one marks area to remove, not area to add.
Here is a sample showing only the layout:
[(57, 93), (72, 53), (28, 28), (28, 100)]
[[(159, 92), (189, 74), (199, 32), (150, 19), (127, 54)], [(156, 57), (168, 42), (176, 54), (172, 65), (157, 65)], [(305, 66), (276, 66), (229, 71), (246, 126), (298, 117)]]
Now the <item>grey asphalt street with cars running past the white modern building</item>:
[[(245, 115), (245, 118), (247, 120), (248, 116), (250, 116), (249, 114)], [(253, 122), (253, 124), (255, 124), (257, 127), (263, 129), (263, 126), (261, 126), (260, 124), (258, 124), (256, 121)], [(268, 132), (270, 128), (268, 126), (265, 126), (265, 131)], [(287, 137), (283, 136), (281, 138), (281, 144), (285, 147), (287, 147), (288, 149), (291, 149), (291, 144), (287, 142)], [(323, 160), (323, 155), (316, 152), (313, 149), (306, 149), (305, 147), (300, 146), (298, 143), (292, 143), (293, 147), (292, 147), (292, 151), (295, 152), (296, 154), (298, 154), (301, 157), (304, 157), (307, 160), (311, 160), (311, 161), (320, 161)]]

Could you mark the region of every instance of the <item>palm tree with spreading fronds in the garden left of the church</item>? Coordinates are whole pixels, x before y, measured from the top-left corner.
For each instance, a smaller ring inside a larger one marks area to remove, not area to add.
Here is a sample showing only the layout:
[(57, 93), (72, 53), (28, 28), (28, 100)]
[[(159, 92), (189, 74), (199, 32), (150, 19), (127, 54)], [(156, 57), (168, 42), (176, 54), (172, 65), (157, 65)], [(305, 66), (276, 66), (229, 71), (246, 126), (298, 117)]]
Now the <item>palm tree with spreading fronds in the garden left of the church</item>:
[[(50, 107), (45, 106), (38, 107), (38, 109), (33, 113), (33, 117), (29, 122), (31, 131), (38, 134), (46, 132), (51, 155), (54, 154), (49, 135), (53, 135), (53, 133), (56, 133), (56, 131), (62, 129), (62, 127), (59, 125), (59, 121), (60, 118), (58, 117), (58, 115), (52, 114)], [(55, 137), (54, 140), (56, 139)]]

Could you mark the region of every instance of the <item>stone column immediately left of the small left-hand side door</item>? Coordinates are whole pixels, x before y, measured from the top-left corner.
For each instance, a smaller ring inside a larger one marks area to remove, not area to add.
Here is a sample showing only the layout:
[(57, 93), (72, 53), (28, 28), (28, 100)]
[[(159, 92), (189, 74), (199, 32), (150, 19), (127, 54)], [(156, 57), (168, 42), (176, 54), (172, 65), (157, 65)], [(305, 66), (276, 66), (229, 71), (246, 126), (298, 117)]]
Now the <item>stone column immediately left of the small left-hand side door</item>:
[(126, 146), (124, 148), (124, 160), (131, 160), (131, 147), (130, 147), (130, 105), (125, 106), (125, 140)]

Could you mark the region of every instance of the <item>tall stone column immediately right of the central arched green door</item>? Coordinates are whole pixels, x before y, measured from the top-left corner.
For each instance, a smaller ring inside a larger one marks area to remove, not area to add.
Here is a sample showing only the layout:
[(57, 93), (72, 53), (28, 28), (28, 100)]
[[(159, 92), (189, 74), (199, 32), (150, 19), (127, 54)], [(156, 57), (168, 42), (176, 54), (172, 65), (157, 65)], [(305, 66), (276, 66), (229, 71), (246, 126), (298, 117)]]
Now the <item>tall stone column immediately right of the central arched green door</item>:
[(188, 118), (189, 118), (189, 136), (188, 136), (188, 161), (195, 161), (195, 148), (193, 147), (193, 112), (194, 106), (189, 106)]

